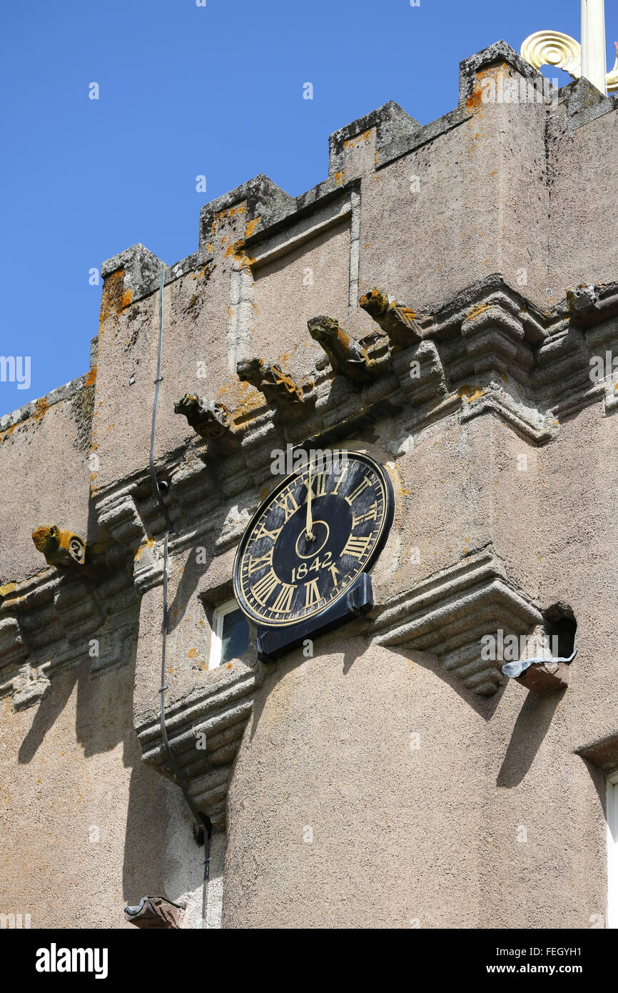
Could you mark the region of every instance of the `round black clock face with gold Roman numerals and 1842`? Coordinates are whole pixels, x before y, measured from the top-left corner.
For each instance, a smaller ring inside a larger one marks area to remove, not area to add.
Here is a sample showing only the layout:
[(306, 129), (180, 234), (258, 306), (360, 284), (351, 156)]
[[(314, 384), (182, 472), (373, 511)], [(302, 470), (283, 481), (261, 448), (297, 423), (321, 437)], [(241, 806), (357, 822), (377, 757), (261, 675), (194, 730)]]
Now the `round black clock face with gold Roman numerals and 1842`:
[(391, 481), (359, 452), (288, 476), (258, 507), (234, 563), (244, 613), (267, 627), (321, 614), (377, 558), (391, 526)]

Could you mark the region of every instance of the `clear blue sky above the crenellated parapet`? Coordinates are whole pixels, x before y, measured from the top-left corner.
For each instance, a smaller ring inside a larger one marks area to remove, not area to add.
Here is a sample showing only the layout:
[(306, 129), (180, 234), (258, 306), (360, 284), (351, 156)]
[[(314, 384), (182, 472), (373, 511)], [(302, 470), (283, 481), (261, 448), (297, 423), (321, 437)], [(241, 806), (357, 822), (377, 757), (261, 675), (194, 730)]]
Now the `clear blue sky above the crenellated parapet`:
[(428, 123), (456, 106), (461, 59), (579, 38), (579, 0), (29, 0), (3, 22), (0, 355), (31, 355), (32, 384), (0, 382), (0, 414), (87, 370), (89, 269), (137, 241), (184, 258), (203, 203), (258, 173), (302, 193), (329, 132), (387, 100)]

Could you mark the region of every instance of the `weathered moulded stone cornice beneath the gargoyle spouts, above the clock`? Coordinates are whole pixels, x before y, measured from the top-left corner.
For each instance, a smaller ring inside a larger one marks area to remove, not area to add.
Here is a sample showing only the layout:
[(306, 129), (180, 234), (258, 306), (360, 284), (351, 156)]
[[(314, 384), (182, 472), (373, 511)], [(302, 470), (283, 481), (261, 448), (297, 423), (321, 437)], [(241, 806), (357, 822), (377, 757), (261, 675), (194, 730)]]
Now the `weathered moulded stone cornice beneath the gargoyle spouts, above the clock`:
[[(410, 307), (393, 304), (395, 316), (399, 308), (414, 322), (408, 346), (393, 344), (377, 320), (384, 307), (378, 308), (375, 332), (361, 339), (354, 353), (371, 368), (369, 381), (348, 378), (344, 365), (335, 370), (324, 355), (306, 381), (290, 386), (296, 390), (293, 420), (282, 419), (264, 396), (261, 405), (225, 410), (217, 431), (200, 431), (160, 461), (157, 471), (169, 486), (166, 502), (175, 526), (171, 555), (200, 541), (216, 553), (236, 543), (271, 480), (274, 450), (336, 446), (388, 420), (388, 447), (397, 456), (407, 439), (431, 424), (447, 418), (465, 424), (485, 415), (497, 417), (529, 444), (543, 445), (556, 437), (560, 418), (582, 407), (598, 403), (604, 414), (612, 414), (618, 406), (615, 377), (595, 381), (590, 373), (595, 355), (605, 360), (612, 349), (618, 354), (617, 298), (617, 283), (581, 286), (569, 289), (562, 303), (544, 314), (494, 275), (433, 315), (419, 317)], [(337, 324), (343, 339), (347, 326), (345, 320)], [(197, 418), (199, 411), (214, 416), (207, 398), (194, 396), (191, 402)], [(222, 444), (224, 430), (233, 435), (233, 444)], [(148, 471), (102, 489), (94, 503), (99, 525), (133, 552), (139, 591), (158, 585), (163, 577), (158, 536), (165, 520)]]

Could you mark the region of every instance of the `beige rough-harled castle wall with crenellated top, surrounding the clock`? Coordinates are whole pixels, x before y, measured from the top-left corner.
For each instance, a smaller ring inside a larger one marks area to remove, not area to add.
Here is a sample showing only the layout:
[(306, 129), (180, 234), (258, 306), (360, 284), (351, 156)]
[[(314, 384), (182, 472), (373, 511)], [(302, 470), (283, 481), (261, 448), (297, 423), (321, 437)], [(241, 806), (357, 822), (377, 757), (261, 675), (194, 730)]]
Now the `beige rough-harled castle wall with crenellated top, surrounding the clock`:
[[(332, 134), (303, 196), (258, 176), (175, 265), (120, 252), (90, 372), (0, 420), (2, 877), (33, 926), (604, 914), (618, 387), (590, 362), (618, 349), (618, 97), (543, 92), (499, 42), (433, 123), (390, 102)], [(160, 727), (162, 269), (166, 717), (205, 895)], [(375, 606), (311, 657), (209, 671), (272, 452), (307, 442), (393, 481)], [(537, 688), (481, 651), (574, 625)]]

